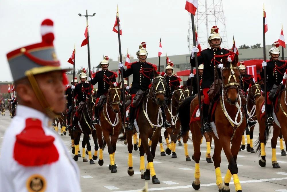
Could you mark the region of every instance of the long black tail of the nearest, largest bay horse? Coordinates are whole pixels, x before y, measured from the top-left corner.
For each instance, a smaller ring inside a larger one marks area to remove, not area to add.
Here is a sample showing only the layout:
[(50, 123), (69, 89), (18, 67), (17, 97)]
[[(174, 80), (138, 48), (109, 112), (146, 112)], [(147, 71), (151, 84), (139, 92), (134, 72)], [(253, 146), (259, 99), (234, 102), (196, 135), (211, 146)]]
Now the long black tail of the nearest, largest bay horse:
[(179, 120), (181, 122), (181, 129), (177, 134), (177, 139), (182, 138), (187, 132), (189, 132), (190, 103), (193, 98), (194, 97), (187, 97), (177, 109)]

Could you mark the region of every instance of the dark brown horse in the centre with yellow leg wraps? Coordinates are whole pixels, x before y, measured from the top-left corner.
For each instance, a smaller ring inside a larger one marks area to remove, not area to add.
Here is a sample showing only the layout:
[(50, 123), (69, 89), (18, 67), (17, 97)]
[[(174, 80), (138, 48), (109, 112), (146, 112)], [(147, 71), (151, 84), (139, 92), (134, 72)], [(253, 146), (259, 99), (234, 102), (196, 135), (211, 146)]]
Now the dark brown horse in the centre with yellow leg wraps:
[[(141, 142), (139, 142), (139, 155), (140, 155), (140, 166), (141, 178), (150, 180), (152, 176), (152, 183), (159, 184), (160, 181), (156, 177), (154, 170), (153, 159), (155, 157), (157, 141), (159, 140), (160, 130), (162, 128), (163, 119), (160, 107), (164, 104), (164, 96), (167, 89), (167, 83), (164, 77), (158, 74), (155, 70), (154, 79), (151, 87), (148, 90), (148, 95), (145, 96), (143, 102), (139, 104), (137, 108), (137, 118), (134, 120), (134, 131), (139, 133)], [(128, 142), (128, 174), (132, 176), (133, 171), (133, 131), (125, 130), (125, 135), (121, 136), (119, 140), (127, 139)], [(148, 145), (148, 139), (152, 139), (156, 142), (152, 142), (151, 150)], [(144, 153), (147, 154), (148, 164), (145, 170)]]

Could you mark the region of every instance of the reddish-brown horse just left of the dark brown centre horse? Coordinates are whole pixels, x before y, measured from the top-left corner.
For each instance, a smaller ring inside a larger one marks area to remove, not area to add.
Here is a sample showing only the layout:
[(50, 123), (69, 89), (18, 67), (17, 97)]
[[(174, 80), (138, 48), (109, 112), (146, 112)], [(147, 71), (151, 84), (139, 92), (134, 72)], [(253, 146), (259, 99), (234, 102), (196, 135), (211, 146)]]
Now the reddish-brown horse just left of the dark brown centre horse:
[[(117, 172), (115, 164), (116, 144), (122, 128), (122, 117), (120, 112), (121, 104), (121, 82), (112, 83), (109, 81), (110, 88), (107, 93), (106, 102), (100, 113), (100, 124), (95, 125), (100, 147), (100, 156), (98, 164), (104, 164), (103, 150), (108, 145), (108, 153), (110, 155), (109, 169), (111, 173)], [(103, 133), (103, 137), (102, 137)]]

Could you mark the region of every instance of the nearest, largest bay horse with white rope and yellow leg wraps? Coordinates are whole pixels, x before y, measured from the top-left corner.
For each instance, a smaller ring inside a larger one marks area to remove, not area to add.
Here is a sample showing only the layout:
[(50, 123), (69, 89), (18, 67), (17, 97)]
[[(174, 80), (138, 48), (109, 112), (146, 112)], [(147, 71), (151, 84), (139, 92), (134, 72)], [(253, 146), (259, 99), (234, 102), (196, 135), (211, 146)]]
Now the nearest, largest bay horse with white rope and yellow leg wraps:
[[(230, 56), (229, 56), (230, 57)], [(214, 122), (210, 123), (213, 132), (208, 133), (214, 138), (214, 155), (212, 157), (214, 161), (215, 174), (216, 174), (216, 185), (219, 191), (230, 191), (229, 183), (233, 176), (235, 190), (242, 192), (241, 185), (238, 179), (238, 168), (236, 164), (238, 151), (241, 145), (241, 136), (246, 127), (246, 119), (244, 117), (244, 110), (242, 108), (242, 100), (239, 95), (240, 88), (240, 72), (237, 66), (238, 56), (235, 55), (232, 62), (227, 61), (227, 57), (222, 57), (222, 88), (220, 90), (219, 102), (216, 102), (214, 111)], [(217, 69), (217, 65), (215, 66)], [(198, 97), (195, 97), (191, 101), (190, 111), (191, 114), (198, 105)], [(189, 131), (189, 121), (187, 118), (181, 118), (182, 129), (179, 134), (180, 137)], [(185, 123), (183, 123), (185, 121)], [(198, 126), (200, 121), (197, 121)], [(200, 129), (194, 129), (196, 134), (193, 134), (193, 145), (194, 145), (194, 158), (195, 158), (195, 180), (192, 183), (193, 189), (198, 190), (200, 188), (200, 171), (199, 171), (199, 159), (200, 159), (200, 140), (201, 131)], [(218, 136), (218, 138), (217, 138)], [(232, 144), (230, 148), (230, 142)], [(228, 170), (224, 178), (224, 184), (220, 172), (221, 163), (221, 151), (222, 148), (228, 160)]]

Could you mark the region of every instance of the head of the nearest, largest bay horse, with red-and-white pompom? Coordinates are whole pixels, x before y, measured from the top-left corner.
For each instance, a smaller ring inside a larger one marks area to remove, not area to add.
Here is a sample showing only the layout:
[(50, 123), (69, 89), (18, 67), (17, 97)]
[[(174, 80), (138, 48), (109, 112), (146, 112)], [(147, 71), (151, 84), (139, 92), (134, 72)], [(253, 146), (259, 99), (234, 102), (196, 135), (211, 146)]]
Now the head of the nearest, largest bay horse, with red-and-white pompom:
[(222, 83), (223, 91), (227, 102), (235, 105), (238, 101), (238, 91), (240, 89), (240, 72), (237, 66), (238, 56), (229, 55), (222, 57)]

